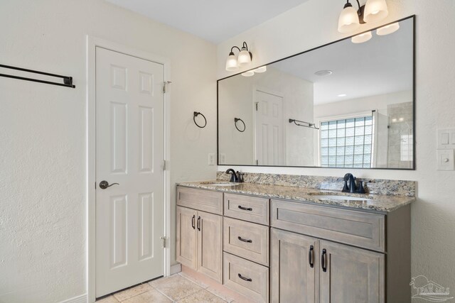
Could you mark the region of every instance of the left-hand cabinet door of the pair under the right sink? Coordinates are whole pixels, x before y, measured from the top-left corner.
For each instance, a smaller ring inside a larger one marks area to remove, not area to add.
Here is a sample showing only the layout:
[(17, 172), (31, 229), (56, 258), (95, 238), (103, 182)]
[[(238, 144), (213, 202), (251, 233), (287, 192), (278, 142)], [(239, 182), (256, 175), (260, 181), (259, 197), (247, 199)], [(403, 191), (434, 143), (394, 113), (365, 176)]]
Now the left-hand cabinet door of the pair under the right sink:
[(272, 228), (271, 265), (271, 302), (319, 301), (318, 239)]

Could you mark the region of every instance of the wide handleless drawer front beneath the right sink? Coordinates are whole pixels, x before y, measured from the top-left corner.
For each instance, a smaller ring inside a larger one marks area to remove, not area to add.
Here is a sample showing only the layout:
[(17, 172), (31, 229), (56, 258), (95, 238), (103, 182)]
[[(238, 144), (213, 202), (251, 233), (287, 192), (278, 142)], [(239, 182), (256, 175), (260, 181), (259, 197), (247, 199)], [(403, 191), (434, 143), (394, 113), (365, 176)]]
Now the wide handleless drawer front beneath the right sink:
[(272, 226), (385, 251), (384, 215), (272, 200)]

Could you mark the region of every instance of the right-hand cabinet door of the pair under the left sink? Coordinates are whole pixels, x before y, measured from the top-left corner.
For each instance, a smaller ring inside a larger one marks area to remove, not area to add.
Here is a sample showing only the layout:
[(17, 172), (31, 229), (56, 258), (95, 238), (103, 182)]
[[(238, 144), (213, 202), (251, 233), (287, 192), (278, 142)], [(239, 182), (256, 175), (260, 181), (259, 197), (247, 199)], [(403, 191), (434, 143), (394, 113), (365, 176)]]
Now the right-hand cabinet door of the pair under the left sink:
[(223, 282), (223, 217), (198, 211), (198, 272)]

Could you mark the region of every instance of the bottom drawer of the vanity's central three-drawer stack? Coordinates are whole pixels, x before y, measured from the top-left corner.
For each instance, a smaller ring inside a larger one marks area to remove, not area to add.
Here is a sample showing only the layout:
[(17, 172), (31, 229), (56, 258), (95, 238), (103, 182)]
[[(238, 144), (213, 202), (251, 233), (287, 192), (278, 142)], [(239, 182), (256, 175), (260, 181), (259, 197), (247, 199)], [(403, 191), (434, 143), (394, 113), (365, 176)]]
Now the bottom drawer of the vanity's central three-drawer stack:
[(223, 254), (224, 285), (255, 302), (269, 302), (269, 268)]

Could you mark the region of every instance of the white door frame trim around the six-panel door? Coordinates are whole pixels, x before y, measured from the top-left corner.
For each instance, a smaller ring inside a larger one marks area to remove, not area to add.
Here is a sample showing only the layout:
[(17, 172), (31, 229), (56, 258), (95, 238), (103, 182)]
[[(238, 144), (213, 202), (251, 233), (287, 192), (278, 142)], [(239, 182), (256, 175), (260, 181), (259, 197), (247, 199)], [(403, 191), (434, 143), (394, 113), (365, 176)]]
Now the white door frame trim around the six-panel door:
[[(95, 271), (96, 271), (96, 214), (95, 214), (95, 182), (96, 182), (96, 48), (105, 48), (124, 55), (130, 55), (139, 59), (156, 62), (164, 66), (164, 82), (170, 79), (170, 62), (167, 58), (144, 52), (125, 45), (120, 45), (111, 41), (95, 38), (87, 35), (87, 302), (95, 302)], [(164, 237), (166, 238), (166, 248), (164, 248), (164, 276), (171, 273), (171, 248), (169, 241), (171, 233), (171, 178), (169, 163), (170, 160), (170, 129), (171, 129), (171, 94), (164, 94), (164, 160), (166, 170), (164, 170)]]

